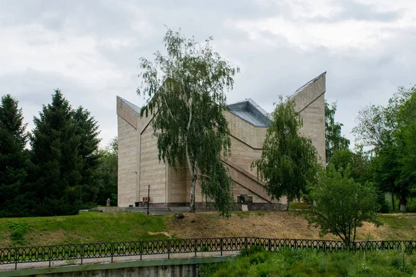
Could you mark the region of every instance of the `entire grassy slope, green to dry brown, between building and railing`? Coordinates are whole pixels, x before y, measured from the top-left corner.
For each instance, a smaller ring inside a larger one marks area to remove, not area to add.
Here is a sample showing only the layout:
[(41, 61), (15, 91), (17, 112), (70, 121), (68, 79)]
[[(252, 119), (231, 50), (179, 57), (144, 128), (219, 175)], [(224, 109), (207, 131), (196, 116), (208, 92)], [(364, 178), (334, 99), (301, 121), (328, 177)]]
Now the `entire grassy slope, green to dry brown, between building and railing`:
[[(414, 240), (416, 213), (380, 215), (383, 226), (365, 224), (358, 240)], [(141, 213), (80, 213), (62, 217), (0, 219), (0, 247), (116, 242), (159, 238), (254, 236), (320, 239), (303, 217), (287, 212), (236, 212), (229, 220), (217, 213), (147, 217)], [(326, 239), (337, 239), (327, 235)]]

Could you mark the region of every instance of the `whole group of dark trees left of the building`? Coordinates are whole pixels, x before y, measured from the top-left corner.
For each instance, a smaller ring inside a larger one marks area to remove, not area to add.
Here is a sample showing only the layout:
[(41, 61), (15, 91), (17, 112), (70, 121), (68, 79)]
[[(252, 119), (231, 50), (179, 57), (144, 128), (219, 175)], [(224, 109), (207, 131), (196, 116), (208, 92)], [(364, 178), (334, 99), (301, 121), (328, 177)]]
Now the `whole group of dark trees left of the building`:
[(117, 139), (100, 149), (94, 116), (73, 109), (59, 89), (31, 132), (18, 104), (1, 97), (0, 217), (74, 215), (107, 198), (116, 204)]

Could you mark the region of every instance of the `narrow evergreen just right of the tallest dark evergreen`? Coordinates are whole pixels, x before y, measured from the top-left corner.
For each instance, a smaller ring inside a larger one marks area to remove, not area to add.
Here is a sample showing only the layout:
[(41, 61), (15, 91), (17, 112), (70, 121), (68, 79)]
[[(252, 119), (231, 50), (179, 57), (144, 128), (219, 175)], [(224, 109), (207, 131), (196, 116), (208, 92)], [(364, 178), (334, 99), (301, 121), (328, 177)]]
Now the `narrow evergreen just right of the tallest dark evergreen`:
[(80, 139), (78, 154), (82, 157), (82, 168), (80, 169), (82, 186), (81, 200), (85, 204), (96, 202), (98, 193), (98, 181), (94, 177), (100, 163), (98, 144), (98, 122), (91, 113), (83, 107), (78, 107), (73, 114), (76, 124), (76, 135)]

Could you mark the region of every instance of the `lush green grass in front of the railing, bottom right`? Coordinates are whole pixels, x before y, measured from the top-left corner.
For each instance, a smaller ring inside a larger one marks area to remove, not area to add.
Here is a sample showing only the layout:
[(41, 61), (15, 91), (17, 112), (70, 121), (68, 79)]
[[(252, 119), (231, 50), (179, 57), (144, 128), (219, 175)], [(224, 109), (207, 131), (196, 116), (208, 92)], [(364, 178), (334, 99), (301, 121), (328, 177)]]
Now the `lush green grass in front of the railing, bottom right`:
[[(254, 261), (254, 262), (253, 262)], [(261, 262), (257, 262), (261, 261)], [(411, 276), (416, 255), (402, 251), (318, 253), (282, 249), (202, 265), (200, 276)]]

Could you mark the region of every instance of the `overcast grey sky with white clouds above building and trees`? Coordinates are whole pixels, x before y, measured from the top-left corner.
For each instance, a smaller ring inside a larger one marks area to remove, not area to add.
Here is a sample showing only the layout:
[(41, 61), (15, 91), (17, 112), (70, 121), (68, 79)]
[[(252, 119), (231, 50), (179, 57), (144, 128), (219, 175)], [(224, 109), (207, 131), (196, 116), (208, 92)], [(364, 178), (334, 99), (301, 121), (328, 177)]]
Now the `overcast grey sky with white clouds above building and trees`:
[(241, 67), (229, 102), (253, 98), (266, 111), (327, 71), (329, 102), (353, 139), (354, 114), (415, 83), (416, 1), (8, 1), (0, 0), (0, 94), (20, 101), (29, 128), (60, 88), (116, 136), (116, 96), (136, 105), (139, 57), (163, 50), (169, 28)]

